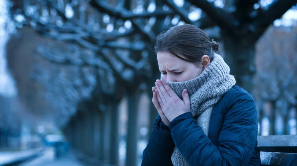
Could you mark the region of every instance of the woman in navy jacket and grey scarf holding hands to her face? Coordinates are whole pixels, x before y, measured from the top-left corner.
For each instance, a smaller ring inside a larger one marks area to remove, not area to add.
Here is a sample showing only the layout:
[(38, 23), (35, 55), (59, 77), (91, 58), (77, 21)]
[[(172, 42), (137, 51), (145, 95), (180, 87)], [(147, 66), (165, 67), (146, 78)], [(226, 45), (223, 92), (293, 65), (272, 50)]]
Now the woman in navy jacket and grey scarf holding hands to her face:
[(260, 165), (255, 102), (235, 85), (218, 49), (193, 25), (157, 37), (161, 79), (152, 102), (159, 115), (142, 166)]

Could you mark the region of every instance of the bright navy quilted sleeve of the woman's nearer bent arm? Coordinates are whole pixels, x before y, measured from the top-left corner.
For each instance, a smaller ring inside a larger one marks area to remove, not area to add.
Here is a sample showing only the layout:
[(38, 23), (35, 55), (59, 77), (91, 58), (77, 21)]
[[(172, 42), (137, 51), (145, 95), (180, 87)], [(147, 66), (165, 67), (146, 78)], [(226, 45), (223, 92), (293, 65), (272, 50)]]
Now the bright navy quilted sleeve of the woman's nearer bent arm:
[(173, 141), (191, 166), (249, 164), (257, 142), (255, 101), (247, 92), (234, 91), (226, 109), (217, 147), (190, 113), (170, 122)]

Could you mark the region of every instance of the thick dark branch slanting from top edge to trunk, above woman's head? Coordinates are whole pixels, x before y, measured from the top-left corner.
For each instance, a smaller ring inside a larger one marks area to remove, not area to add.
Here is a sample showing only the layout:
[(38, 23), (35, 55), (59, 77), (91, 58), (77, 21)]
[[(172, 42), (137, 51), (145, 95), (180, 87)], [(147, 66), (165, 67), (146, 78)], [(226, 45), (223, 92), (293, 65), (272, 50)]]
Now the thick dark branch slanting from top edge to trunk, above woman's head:
[(211, 20), (217, 23), (217, 25), (222, 29), (234, 30), (239, 26), (239, 22), (234, 18), (233, 15), (226, 12), (223, 9), (215, 7), (213, 4), (209, 3), (207, 0), (188, 0), (193, 5), (202, 9)]

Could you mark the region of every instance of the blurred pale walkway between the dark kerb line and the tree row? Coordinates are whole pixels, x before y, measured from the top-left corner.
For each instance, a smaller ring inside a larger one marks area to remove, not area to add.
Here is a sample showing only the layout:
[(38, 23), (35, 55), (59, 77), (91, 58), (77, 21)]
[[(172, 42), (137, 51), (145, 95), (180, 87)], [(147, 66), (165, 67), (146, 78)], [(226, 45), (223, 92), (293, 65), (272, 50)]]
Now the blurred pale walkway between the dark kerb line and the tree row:
[(21, 166), (82, 166), (73, 156), (55, 159), (54, 149), (46, 149), (44, 155)]

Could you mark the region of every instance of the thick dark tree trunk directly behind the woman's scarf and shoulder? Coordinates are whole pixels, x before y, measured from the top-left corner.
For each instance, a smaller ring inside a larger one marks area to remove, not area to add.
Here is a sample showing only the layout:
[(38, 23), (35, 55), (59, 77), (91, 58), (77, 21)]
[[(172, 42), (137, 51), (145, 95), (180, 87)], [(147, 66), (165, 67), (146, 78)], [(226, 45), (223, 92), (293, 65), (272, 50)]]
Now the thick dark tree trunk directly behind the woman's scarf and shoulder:
[(235, 40), (228, 33), (221, 35), (224, 42), (224, 60), (230, 66), (231, 74), (235, 75), (236, 84), (252, 94), (256, 72), (255, 42)]

